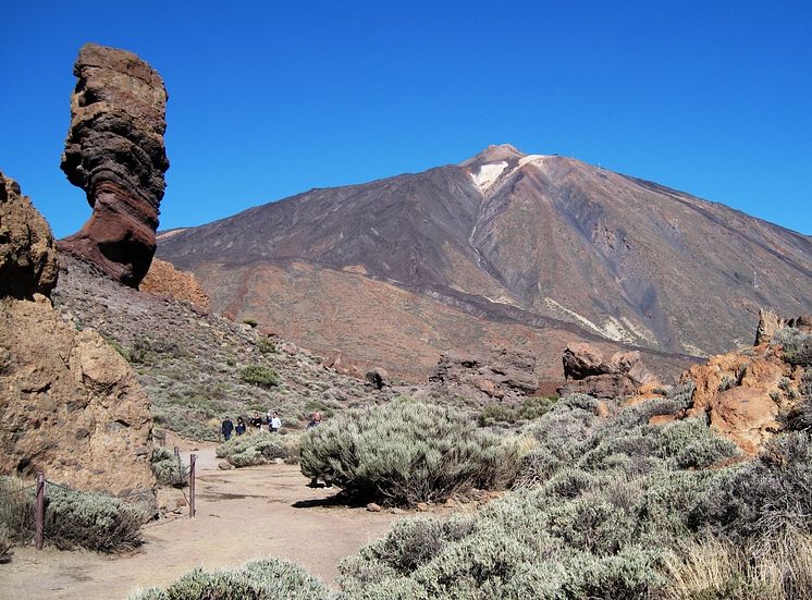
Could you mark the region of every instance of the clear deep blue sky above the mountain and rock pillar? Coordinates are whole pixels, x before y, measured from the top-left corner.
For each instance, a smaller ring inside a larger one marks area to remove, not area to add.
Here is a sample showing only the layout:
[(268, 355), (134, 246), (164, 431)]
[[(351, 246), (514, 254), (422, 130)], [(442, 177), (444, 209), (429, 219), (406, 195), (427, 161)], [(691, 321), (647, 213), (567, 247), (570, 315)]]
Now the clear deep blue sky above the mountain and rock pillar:
[(812, 234), (812, 2), (9, 2), (0, 170), (58, 236), (73, 63), (138, 53), (170, 93), (161, 228), (311, 187), (575, 156)]

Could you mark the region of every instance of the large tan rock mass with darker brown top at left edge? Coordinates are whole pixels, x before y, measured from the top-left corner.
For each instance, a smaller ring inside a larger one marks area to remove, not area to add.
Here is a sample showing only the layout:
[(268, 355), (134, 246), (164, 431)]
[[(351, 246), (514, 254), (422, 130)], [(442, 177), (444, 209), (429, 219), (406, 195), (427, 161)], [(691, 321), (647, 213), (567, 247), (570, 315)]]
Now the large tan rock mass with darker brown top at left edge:
[(151, 506), (149, 400), (98, 333), (76, 331), (53, 310), (44, 295), (59, 272), (50, 231), (19, 187), (3, 181), (0, 470), (42, 470), (52, 481)]

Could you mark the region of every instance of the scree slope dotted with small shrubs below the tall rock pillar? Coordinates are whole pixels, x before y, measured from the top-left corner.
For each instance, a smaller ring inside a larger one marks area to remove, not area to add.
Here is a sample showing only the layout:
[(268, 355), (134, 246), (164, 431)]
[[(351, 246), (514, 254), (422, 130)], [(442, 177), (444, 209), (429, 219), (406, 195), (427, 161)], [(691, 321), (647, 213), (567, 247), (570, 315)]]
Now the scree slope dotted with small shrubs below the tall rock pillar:
[[(226, 414), (236, 420), (273, 409), (290, 429), (303, 427), (313, 411), (329, 417), (398, 393), (339, 374), (322, 357), (189, 301), (133, 290), (69, 255), (61, 257), (53, 298), (63, 319), (98, 331), (131, 363), (156, 425), (188, 437), (218, 439)], [(246, 382), (251, 366), (272, 369), (276, 384)]]

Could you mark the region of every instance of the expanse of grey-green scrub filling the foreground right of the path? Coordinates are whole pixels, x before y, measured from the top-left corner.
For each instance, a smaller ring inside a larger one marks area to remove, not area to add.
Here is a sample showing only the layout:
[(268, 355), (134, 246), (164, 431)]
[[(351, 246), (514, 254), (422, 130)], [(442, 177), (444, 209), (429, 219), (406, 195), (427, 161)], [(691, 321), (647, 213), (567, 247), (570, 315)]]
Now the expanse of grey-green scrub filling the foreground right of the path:
[[(282, 579), (283, 593), (812, 598), (810, 433), (796, 427), (748, 460), (702, 420), (649, 424), (678, 413), (691, 393), (681, 387), (636, 406), (573, 395), (502, 436), (477, 427), (475, 414), (406, 399), (337, 415), (303, 436), (302, 469), (349, 497), (411, 505), (473, 486), (513, 491), (473, 514), (397, 523), (340, 565), (340, 591), (273, 563), (297, 574)], [(598, 416), (606, 409), (608, 418)], [(258, 564), (188, 577), (209, 581), (206, 598), (236, 598), (223, 581), (246, 570), (261, 579), (269, 567)], [(172, 596), (140, 598), (199, 597), (180, 584)]]

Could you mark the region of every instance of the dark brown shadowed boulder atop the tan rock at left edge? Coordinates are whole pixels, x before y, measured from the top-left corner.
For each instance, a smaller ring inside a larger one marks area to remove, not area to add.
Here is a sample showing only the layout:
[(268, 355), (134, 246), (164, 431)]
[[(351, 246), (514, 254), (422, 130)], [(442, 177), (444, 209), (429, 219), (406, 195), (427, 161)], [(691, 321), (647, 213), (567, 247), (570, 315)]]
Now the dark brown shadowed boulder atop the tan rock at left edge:
[(57, 248), (48, 222), (0, 173), (0, 297), (48, 295), (59, 275)]

